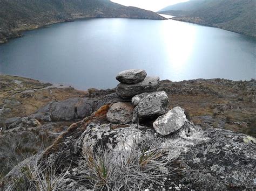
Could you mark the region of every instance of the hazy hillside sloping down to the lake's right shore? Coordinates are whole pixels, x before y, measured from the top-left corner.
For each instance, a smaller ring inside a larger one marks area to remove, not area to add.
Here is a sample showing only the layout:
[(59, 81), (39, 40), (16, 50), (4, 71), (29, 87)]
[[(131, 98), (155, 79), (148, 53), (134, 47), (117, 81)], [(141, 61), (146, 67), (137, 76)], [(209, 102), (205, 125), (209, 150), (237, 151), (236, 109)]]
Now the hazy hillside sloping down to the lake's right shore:
[(173, 15), (174, 20), (214, 26), (256, 37), (256, 1), (205, 0), (168, 6), (159, 13)]

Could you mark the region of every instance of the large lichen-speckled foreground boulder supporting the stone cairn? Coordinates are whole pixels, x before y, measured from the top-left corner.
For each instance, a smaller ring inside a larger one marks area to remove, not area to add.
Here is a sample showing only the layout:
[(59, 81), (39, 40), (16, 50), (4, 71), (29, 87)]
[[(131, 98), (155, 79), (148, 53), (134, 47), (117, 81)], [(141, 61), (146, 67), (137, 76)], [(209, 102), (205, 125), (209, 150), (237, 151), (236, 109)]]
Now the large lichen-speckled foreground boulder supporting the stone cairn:
[[(139, 137), (140, 149), (164, 148), (168, 158), (173, 160), (166, 166), (172, 172), (166, 174), (167, 181), (163, 182), (166, 189), (171, 186), (180, 186), (184, 190), (254, 189), (256, 146), (250, 141), (250, 136), (223, 129), (203, 130), (200, 126), (186, 121), (172, 135), (159, 138), (152, 128), (146, 126), (139, 126), (137, 129), (137, 124), (129, 124), (125, 128), (113, 129), (111, 124), (90, 120), (87, 122), (76, 124), (76, 130), (72, 129), (58, 139), (58, 145), (55, 145), (50, 155), (41, 157), (43, 164), (55, 162), (58, 169), (61, 166), (61, 169), (66, 168), (70, 172), (69, 178), (63, 179), (66, 182), (64, 188), (68, 186), (69, 189), (90, 189), (87, 181), (76, 181), (81, 176), (80, 173), (83, 173), (79, 171), (79, 167), (83, 165), (84, 150), (89, 147), (94, 152), (102, 152), (107, 148), (113, 151), (124, 151), (124, 148), (130, 150)], [(60, 159), (61, 163), (58, 162)], [(27, 159), (26, 164), (28, 160), (35, 159)], [(24, 168), (23, 165), (24, 162), (5, 176), (5, 188), (15, 188), (15, 180), (22, 177), (20, 169)], [(72, 186), (70, 182), (77, 183)], [(24, 184), (25, 181), (21, 183)], [(144, 189), (146, 188), (148, 187)]]

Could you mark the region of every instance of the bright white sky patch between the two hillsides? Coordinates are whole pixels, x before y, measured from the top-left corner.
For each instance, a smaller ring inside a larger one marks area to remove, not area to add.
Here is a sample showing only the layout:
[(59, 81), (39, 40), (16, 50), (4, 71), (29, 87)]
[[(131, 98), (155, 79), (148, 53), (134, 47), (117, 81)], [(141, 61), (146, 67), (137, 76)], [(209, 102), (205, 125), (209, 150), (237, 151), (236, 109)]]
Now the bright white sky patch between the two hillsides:
[(112, 2), (119, 3), (125, 6), (137, 6), (138, 8), (159, 11), (166, 6), (186, 2), (188, 0), (111, 0)]

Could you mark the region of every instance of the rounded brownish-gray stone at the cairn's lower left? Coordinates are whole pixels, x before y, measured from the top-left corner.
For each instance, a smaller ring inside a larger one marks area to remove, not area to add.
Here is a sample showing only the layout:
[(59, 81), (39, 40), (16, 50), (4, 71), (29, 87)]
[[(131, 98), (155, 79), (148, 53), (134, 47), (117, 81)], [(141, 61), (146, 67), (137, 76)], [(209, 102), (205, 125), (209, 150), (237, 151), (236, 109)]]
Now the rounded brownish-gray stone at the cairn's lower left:
[(107, 112), (107, 120), (111, 123), (130, 123), (132, 122), (133, 106), (129, 102), (114, 103)]

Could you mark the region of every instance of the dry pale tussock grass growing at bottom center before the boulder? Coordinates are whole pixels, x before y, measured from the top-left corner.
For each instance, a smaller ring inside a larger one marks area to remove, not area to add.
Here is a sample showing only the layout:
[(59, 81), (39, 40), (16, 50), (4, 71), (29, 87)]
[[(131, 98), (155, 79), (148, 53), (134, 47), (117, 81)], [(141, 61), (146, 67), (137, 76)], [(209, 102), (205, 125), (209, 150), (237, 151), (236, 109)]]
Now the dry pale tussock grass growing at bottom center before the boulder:
[(141, 190), (150, 188), (152, 183), (164, 186), (172, 162), (168, 152), (163, 148), (146, 150), (140, 147), (136, 142), (121, 150), (92, 151), (84, 147), (84, 163), (79, 166), (80, 181), (93, 185), (94, 190)]

